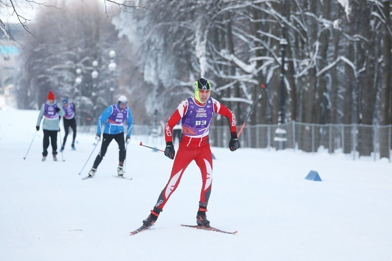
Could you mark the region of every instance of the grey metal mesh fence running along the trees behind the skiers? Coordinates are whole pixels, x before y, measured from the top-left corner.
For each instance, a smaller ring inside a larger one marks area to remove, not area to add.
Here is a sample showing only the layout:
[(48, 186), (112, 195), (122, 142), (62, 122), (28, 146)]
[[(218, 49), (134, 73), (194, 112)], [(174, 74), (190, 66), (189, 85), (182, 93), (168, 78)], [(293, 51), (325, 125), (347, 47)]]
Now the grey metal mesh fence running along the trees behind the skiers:
[[(96, 125), (80, 126), (81, 132), (94, 133)], [(153, 142), (163, 143), (162, 130), (159, 136), (154, 129), (156, 126), (134, 125), (132, 136)], [(279, 129), (277, 131), (277, 129)], [(281, 130), (284, 130), (283, 132)], [(282, 133), (282, 134), (277, 134)], [(280, 135), (285, 141), (283, 149), (303, 150), (315, 153), (351, 154), (352, 159), (370, 157), (374, 161), (388, 158), (391, 162), (392, 125), (362, 125), (362, 124), (314, 124), (290, 121), (280, 125), (248, 125), (241, 133), (241, 147), (279, 149)], [(227, 126), (210, 126), (210, 144), (215, 147), (227, 147), (230, 141), (230, 131)]]

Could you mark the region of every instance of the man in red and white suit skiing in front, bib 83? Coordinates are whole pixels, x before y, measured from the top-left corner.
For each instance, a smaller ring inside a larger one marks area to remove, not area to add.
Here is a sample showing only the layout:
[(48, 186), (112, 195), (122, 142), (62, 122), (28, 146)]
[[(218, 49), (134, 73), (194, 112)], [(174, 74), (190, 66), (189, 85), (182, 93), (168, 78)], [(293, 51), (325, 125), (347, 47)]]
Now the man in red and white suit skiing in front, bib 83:
[(240, 147), (237, 138), (234, 114), (219, 101), (210, 97), (211, 84), (200, 78), (195, 82), (195, 96), (183, 100), (165, 126), (165, 156), (174, 159), (175, 151), (172, 142), (172, 129), (181, 120), (182, 133), (180, 147), (174, 159), (169, 182), (163, 188), (151, 214), (143, 220), (144, 227), (150, 227), (158, 219), (170, 195), (176, 190), (185, 169), (192, 160), (200, 168), (203, 180), (200, 193), (199, 209), (196, 216), (198, 225), (209, 226), (207, 220), (207, 204), (212, 185), (212, 154), (208, 132), (214, 113), (219, 113), (229, 121), (231, 139), (229, 148), (234, 151)]

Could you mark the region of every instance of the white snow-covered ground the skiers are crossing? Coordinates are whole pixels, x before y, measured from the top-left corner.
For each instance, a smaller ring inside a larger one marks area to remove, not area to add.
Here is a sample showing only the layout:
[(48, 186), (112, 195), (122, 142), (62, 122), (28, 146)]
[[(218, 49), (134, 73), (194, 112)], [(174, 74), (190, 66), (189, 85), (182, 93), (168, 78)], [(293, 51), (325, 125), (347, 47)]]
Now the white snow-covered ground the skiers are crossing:
[[(112, 177), (116, 143), (96, 177), (82, 180), (98, 153), (79, 176), (94, 137), (78, 135), (77, 151), (67, 143), (64, 162), (41, 162), (42, 131), (23, 160), (37, 115), (0, 111), (0, 260), (392, 259), (388, 161), (212, 148), (217, 159), (207, 216), (211, 225), (238, 234), (179, 225), (196, 223), (201, 177), (191, 163), (156, 225), (129, 236), (155, 204), (172, 161), (133, 137), (126, 173), (133, 180)], [(322, 182), (304, 179), (312, 169)]]

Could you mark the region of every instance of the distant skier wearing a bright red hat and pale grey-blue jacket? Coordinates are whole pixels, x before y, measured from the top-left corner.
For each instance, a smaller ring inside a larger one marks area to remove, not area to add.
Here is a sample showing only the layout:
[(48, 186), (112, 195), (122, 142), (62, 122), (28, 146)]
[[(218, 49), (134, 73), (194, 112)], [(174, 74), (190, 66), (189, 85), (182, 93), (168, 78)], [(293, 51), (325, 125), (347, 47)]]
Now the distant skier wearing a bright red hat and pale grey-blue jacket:
[(64, 116), (65, 112), (60, 104), (55, 100), (53, 92), (49, 91), (47, 95), (47, 101), (42, 103), (40, 114), (36, 124), (36, 130), (40, 130), (40, 124), (42, 117), (44, 117), (44, 123), (42, 123), (42, 130), (44, 130), (44, 152), (42, 152), (42, 161), (45, 161), (48, 155), (47, 148), (50, 143), (52, 144), (52, 155), (53, 160), (57, 161), (57, 132), (60, 130), (60, 117)]

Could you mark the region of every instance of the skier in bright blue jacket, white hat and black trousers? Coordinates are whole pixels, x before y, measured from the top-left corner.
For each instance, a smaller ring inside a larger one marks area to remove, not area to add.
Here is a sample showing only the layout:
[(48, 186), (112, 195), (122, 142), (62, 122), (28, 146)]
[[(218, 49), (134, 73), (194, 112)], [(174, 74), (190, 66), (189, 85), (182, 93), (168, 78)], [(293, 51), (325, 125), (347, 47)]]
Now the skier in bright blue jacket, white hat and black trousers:
[[(95, 158), (93, 167), (89, 171), (89, 176), (94, 176), (97, 171), (98, 165), (101, 163), (103, 156), (106, 154), (107, 147), (110, 142), (114, 139), (119, 148), (119, 163), (117, 167), (118, 176), (123, 176), (123, 165), (125, 160), (125, 142), (128, 144), (131, 141), (131, 132), (133, 125), (133, 118), (131, 109), (127, 106), (127, 97), (124, 95), (118, 98), (118, 103), (110, 105), (102, 112), (101, 116), (98, 118), (97, 123), (97, 134), (95, 139), (99, 141), (101, 139), (101, 128), (105, 124), (103, 130), (103, 140), (101, 150), (98, 156)], [(127, 122), (128, 130), (127, 137), (124, 142), (124, 123)]]

